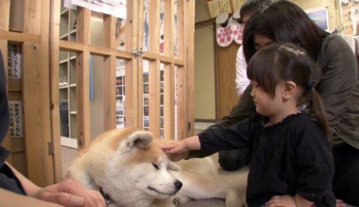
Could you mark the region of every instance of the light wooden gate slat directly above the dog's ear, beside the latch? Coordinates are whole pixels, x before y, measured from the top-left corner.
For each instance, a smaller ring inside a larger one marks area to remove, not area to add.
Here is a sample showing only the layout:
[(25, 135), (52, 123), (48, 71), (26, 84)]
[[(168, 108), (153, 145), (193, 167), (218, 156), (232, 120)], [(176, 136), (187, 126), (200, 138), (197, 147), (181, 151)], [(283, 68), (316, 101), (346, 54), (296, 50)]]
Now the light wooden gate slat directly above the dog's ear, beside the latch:
[[(125, 31), (125, 50), (133, 52), (138, 47), (138, 1), (127, 1), (127, 18), (126, 18), (126, 31)], [(139, 128), (139, 86), (138, 86), (138, 62), (139, 59), (130, 59), (126, 61), (125, 74), (126, 74), (126, 126)]]

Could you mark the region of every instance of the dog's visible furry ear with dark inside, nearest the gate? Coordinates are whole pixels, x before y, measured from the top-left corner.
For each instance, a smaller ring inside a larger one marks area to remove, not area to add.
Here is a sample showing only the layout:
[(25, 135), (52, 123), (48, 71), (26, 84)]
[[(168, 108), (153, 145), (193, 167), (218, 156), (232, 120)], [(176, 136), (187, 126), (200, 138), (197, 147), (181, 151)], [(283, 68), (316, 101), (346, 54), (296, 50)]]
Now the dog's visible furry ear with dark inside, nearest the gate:
[(153, 135), (148, 131), (136, 131), (130, 134), (125, 141), (122, 141), (119, 148), (124, 151), (132, 150), (133, 148), (148, 148), (151, 143)]

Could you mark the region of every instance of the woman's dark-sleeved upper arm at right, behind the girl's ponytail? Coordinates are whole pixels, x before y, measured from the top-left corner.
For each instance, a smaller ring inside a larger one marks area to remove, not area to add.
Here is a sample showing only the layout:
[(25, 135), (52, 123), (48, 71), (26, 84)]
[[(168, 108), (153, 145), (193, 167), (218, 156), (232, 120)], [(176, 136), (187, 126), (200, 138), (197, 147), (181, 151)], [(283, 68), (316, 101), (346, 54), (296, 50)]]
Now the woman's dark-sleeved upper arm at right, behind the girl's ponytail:
[[(342, 37), (331, 34), (324, 39), (318, 57), (322, 77), (318, 81), (318, 91), (327, 111), (329, 127), (335, 130), (342, 121), (347, 103), (353, 95), (358, 78), (356, 57)], [(333, 132), (333, 131), (332, 131)]]

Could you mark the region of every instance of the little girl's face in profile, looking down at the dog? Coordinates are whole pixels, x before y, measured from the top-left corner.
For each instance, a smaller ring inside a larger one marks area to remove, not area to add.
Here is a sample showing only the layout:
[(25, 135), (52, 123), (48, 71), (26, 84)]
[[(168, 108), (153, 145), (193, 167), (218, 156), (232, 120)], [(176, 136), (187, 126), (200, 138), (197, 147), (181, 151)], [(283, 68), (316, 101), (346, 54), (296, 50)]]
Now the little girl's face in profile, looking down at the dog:
[(275, 117), (282, 106), (282, 95), (280, 84), (275, 87), (275, 97), (272, 98), (268, 92), (264, 92), (257, 81), (251, 81), (253, 88), (251, 96), (255, 104), (255, 110), (264, 117)]

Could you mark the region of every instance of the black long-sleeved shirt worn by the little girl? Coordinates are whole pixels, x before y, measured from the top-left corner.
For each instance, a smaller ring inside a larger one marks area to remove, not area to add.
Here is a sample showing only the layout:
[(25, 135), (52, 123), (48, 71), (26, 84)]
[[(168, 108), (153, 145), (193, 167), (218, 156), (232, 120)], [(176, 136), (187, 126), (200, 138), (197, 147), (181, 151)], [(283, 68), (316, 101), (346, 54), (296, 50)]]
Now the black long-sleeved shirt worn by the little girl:
[(304, 113), (273, 126), (265, 127), (266, 121), (255, 115), (230, 128), (208, 129), (199, 135), (201, 150), (251, 148), (249, 206), (261, 206), (273, 195), (297, 193), (316, 206), (336, 206), (331, 145), (320, 127)]

